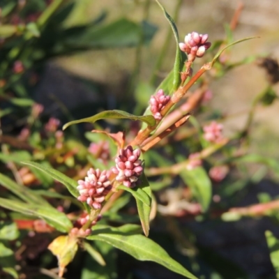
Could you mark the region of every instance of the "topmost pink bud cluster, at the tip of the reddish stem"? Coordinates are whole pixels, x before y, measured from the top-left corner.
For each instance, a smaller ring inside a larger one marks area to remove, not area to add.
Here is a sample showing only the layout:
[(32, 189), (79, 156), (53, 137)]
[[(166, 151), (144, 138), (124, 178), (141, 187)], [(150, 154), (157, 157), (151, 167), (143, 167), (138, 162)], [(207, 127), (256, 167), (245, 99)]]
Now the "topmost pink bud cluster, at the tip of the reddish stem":
[(185, 43), (179, 43), (180, 49), (188, 54), (188, 61), (193, 62), (196, 57), (204, 56), (205, 51), (211, 46), (211, 43), (207, 42), (208, 38), (207, 34), (192, 32), (186, 35)]

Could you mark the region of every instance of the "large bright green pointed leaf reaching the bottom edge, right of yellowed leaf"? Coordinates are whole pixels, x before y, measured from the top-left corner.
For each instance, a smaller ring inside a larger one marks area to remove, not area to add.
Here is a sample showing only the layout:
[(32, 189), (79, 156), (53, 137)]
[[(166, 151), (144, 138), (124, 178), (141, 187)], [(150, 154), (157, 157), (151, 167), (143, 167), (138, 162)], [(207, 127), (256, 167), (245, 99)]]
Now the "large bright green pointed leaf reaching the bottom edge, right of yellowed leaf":
[[(130, 226), (130, 225), (129, 225)], [(184, 269), (181, 264), (169, 257), (167, 252), (151, 239), (141, 234), (127, 232), (126, 225), (118, 228), (97, 229), (86, 239), (104, 241), (127, 252), (140, 261), (153, 261), (167, 269), (179, 273), (186, 278), (197, 279), (192, 273)]]

